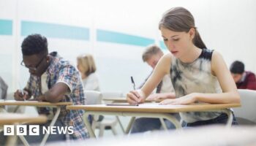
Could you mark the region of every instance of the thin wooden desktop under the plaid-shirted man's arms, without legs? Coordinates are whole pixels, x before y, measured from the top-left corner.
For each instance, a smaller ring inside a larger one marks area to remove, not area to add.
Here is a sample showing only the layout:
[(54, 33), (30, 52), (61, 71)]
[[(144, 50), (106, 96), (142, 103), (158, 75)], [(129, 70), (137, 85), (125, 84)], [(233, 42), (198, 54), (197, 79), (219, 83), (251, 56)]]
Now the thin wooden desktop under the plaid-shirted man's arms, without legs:
[(60, 105), (72, 105), (72, 102), (42, 102), (42, 101), (15, 101), (15, 100), (1, 100), (1, 105), (24, 105), (24, 106), (60, 106)]

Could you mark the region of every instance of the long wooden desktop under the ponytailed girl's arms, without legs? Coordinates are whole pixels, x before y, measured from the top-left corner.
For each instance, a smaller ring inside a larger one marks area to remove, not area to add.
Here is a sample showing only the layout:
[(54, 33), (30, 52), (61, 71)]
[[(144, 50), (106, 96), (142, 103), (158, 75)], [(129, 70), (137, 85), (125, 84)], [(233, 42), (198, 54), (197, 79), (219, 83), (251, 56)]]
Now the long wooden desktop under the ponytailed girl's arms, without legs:
[(241, 104), (191, 104), (191, 105), (159, 105), (157, 103), (140, 104), (139, 106), (107, 106), (95, 105), (69, 105), (68, 110), (86, 110), (102, 112), (199, 112), (208, 110), (223, 110), (231, 107), (241, 107)]

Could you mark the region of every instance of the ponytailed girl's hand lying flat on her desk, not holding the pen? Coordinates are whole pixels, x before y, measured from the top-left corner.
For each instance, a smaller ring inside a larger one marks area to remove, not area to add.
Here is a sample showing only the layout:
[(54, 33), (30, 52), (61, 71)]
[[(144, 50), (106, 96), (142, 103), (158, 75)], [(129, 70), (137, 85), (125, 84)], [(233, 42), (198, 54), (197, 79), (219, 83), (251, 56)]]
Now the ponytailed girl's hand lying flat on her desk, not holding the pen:
[(195, 103), (195, 93), (190, 93), (187, 96), (182, 96), (178, 99), (165, 99), (164, 101), (160, 102), (161, 105), (186, 105), (186, 104), (192, 104)]

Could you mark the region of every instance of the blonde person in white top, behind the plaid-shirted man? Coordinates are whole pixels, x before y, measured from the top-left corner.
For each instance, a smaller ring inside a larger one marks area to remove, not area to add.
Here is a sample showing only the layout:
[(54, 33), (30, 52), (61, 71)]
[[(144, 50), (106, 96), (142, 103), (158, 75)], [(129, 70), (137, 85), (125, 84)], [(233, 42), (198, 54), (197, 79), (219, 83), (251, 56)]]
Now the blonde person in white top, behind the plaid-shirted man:
[(99, 79), (97, 77), (96, 65), (92, 55), (80, 55), (77, 58), (78, 70), (83, 80), (83, 88), (85, 91), (100, 91)]

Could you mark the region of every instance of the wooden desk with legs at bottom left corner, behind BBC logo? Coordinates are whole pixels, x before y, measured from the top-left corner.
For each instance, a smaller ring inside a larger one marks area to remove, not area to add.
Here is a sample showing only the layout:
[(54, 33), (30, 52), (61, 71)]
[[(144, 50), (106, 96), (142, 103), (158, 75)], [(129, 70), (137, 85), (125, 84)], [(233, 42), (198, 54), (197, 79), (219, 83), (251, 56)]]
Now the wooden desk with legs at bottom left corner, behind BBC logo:
[[(22, 123), (46, 123), (47, 117), (45, 115), (31, 116), (25, 114), (15, 113), (0, 113), (0, 126), (4, 125), (17, 125)], [(26, 139), (19, 136), (24, 145), (29, 145)], [(8, 137), (6, 145), (15, 145), (17, 136)]]

